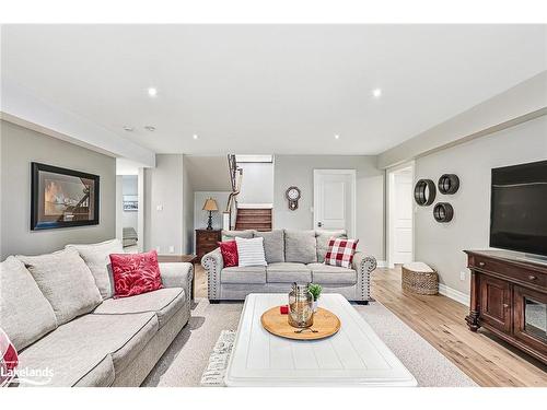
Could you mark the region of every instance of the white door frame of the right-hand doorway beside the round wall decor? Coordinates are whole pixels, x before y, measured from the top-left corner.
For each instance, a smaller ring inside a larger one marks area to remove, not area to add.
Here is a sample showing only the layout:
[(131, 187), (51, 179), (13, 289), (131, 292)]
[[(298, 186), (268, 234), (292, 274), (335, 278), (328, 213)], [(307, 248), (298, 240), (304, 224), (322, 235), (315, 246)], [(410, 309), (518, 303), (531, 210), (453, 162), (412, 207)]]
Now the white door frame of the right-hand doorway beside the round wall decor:
[[(415, 184), (416, 179), (416, 164), (415, 161), (409, 161), (405, 162), (403, 164), (393, 166), (391, 168), (387, 168), (385, 171), (385, 183), (386, 183), (386, 218), (385, 218), (385, 238), (386, 238), (386, 259), (387, 259), (387, 267), (393, 269), (395, 268), (395, 262), (394, 262), (394, 244), (395, 244), (395, 238), (394, 238), (394, 218), (395, 218), (395, 203), (394, 203), (394, 188), (395, 188), (395, 174), (400, 172), (401, 169), (410, 168), (410, 172), (412, 174), (411, 180), (412, 180), (412, 186)], [(412, 260), (415, 258), (415, 232), (416, 232), (416, 218), (415, 218), (415, 204), (412, 200)]]

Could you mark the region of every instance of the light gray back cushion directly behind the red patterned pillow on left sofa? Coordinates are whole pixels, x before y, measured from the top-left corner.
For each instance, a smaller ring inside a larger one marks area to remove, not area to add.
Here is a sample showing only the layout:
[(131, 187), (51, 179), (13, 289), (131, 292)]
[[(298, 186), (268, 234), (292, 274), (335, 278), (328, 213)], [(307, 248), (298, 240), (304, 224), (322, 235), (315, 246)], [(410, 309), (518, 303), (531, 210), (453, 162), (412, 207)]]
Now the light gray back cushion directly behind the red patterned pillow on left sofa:
[(114, 285), (108, 272), (108, 263), (110, 263), (110, 254), (123, 254), (124, 247), (119, 239), (101, 242), (98, 244), (89, 245), (67, 245), (67, 248), (78, 250), (85, 265), (91, 270), (95, 284), (101, 292), (103, 298), (108, 298), (114, 295)]

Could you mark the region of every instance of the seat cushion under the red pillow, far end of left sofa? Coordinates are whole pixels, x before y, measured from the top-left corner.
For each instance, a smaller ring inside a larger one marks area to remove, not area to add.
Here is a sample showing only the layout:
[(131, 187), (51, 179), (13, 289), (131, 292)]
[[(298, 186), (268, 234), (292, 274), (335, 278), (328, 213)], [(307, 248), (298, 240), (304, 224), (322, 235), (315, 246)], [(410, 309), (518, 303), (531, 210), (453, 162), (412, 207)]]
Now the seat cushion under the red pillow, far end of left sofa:
[(119, 315), (130, 313), (154, 313), (160, 329), (186, 303), (182, 288), (165, 288), (131, 297), (109, 298), (93, 311), (94, 315)]

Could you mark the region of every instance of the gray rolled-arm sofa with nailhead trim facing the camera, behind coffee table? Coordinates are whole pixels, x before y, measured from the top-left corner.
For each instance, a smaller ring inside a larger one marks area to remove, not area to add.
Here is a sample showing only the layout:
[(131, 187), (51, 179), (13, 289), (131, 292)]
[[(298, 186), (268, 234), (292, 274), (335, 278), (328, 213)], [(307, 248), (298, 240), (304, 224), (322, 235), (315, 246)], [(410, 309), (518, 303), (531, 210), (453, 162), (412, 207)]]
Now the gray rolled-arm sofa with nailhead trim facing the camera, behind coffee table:
[(249, 293), (286, 293), (292, 282), (319, 283), (324, 292), (340, 293), (348, 301), (368, 303), (370, 274), (376, 259), (356, 253), (351, 269), (324, 265), (330, 237), (346, 237), (345, 231), (274, 230), (223, 231), (222, 239), (264, 237), (266, 267), (224, 268), (220, 248), (207, 254), (209, 301), (241, 301)]

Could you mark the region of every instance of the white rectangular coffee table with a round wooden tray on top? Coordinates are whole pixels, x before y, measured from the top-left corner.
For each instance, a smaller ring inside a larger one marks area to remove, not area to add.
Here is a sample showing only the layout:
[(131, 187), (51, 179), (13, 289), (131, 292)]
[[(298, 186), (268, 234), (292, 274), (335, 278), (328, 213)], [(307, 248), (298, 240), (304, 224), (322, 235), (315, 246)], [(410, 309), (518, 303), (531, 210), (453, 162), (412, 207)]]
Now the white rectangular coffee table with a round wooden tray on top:
[(286, 294), (249, 294), (245, 300), (226, 386), (416, 386), (416, 378), (359, 313), (339, 294), (319, 306), (335, 313), (341, 328), (323, 340), (289, 340), (269, 333), (261, 314), (288, 303)]

